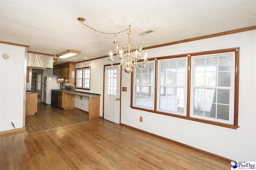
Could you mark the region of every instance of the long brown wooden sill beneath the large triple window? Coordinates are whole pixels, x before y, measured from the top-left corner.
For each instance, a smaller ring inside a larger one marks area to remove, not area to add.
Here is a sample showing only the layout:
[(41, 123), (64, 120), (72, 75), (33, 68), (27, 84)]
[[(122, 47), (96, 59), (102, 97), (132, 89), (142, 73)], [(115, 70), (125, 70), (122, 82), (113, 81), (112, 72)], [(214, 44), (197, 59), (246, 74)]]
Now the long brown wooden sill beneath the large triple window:
[(204, 119), (198, 119), (198, 118), (194, 118), (194, 117), (176, 115), (176, 114), (171, 114), (171, 113), (164, 113), (164, 112), (155, 111), (155, 110), (149, 110), (149, 109), (144, 109), (144, 108), (140, 108), (140, 107), (134, 107), (134, 106), (130, 106), (130, 107), (131, 107), (132, 109), (143, 110), (143, 111), (152, 112), (152, 113), (157, 113), (157, 114), (161, 114), (161, 115), (167, 115), (167, 116), (171, 116), (171, 117), (178, 117), (178, 118), (181, 118), (181, 119), (187, 119), (187, 120), (191, 120), (191, 121), (197, 121), (197, 122), (201, 122), (201, 123), (206, 123), (206, 124), (210, 124), (210, 125), (216, 125), (216, 126), (226, 127), (226, 128), (230, 128), (230, 129), (237, 129), (237, 128), (239, 127), (239, 126), (234, 126), (234, 125), (230, 125), (230, 124), (226, 124), (226, 123), (220, 123), (220, 122), (216, 122), (216, 121), (208, 121), (208, 120), (204, 120)]

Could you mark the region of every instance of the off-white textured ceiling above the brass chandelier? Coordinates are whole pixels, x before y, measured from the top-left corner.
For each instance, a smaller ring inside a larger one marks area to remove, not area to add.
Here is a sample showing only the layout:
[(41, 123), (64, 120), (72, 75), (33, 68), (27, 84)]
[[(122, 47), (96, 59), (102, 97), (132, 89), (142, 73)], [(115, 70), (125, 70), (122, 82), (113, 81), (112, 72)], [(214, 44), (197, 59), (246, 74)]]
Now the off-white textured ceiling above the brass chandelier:
[[(133, 42), (144, 47), (256, 25), (256, 0), (0, 0), (0, 41), (29, 45), (28, 51), (79, 55), (78, 62), (114, 52), (114, 35), (131, 25)], [(127, 31), (117, 35), (127, 41)], [(87, 59), (85, 59), (85, 57)], [(75, 61), (76, 60), (76, 61)]]

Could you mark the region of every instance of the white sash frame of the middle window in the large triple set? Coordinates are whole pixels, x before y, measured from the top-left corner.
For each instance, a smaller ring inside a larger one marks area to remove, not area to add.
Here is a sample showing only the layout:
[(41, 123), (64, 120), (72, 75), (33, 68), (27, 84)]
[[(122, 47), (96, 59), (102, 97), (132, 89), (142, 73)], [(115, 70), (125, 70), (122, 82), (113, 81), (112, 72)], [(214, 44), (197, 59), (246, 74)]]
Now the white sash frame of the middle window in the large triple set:
[[(168, 85), (160, 85), (160, 73), (161, 73), (161, 64), (160, 62), (162, 61), (179, 61), (179, 60), (186, 60), (186, 77), (185, 77), (185, 86), (181, 86), (181, 85), (175, 85), (175, 86), (172, 86), (172, 87), (182, 87), (184, 88), (184, 112), (183, 113), (179, 113), (179, 112), (175, 112), (175, 111), (168, 111), (168, 110), (164, 110), (164, 109), (160, 109), (159, 106), (160, 106), (160, 87), (170, 87)], [(180, 57), (180, 58), (173, 58), (173, 59), (162, 59), (162, 60), (158, 60), (158, 80), (157, 80), (157, 83), (158, 83), (158, 86), (157, 86), (157, 104), (156, 104), (156, 107), (157, 107), (157, 111), (161, 111), (161, 112), (165, 112), (165, 113), (171, 113), (171, 114), (177, 114), (177, 115), (184, 115), (186, 116), (186, 113), (187, 113), (187, 94), (188, 94), (188, 57)]]

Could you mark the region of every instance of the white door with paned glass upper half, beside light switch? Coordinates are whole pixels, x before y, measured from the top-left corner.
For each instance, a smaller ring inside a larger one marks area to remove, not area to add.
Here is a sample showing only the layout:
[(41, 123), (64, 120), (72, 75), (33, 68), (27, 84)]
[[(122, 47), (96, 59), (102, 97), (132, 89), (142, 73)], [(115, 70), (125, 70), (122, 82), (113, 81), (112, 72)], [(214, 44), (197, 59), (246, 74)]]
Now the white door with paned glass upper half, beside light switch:
[(120, 124), (120, 72), (105, 67), (104, 119)]

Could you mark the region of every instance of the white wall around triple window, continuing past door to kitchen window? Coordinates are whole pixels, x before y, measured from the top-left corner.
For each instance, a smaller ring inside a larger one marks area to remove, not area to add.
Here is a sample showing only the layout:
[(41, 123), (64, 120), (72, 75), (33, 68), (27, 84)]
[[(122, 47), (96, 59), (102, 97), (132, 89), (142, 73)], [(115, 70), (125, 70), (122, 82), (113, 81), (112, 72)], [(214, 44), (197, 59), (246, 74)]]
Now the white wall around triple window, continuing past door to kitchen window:
[[(145, 42), (146, 43), (146, 42)], [(256, 30), (180, 43), (144, 50), (148, 58), (240, 47), (238, 129), (229, 129), (140, 111), (130, 108), (131, 77), (122, 72), (121, 123), (196, 147), (237, 161), (256, 160)], [(91, 90), (101, 94), (100, 115), (103, 108), (103, 66), (108, 58), (77, 63), (76, 68), (91, 66)], [(79, 99), (80, 100), (80, 99)], [(78, 102), (75, 100), (75, 102)], [(139, 117), (143, 117), (143, 122)]]

